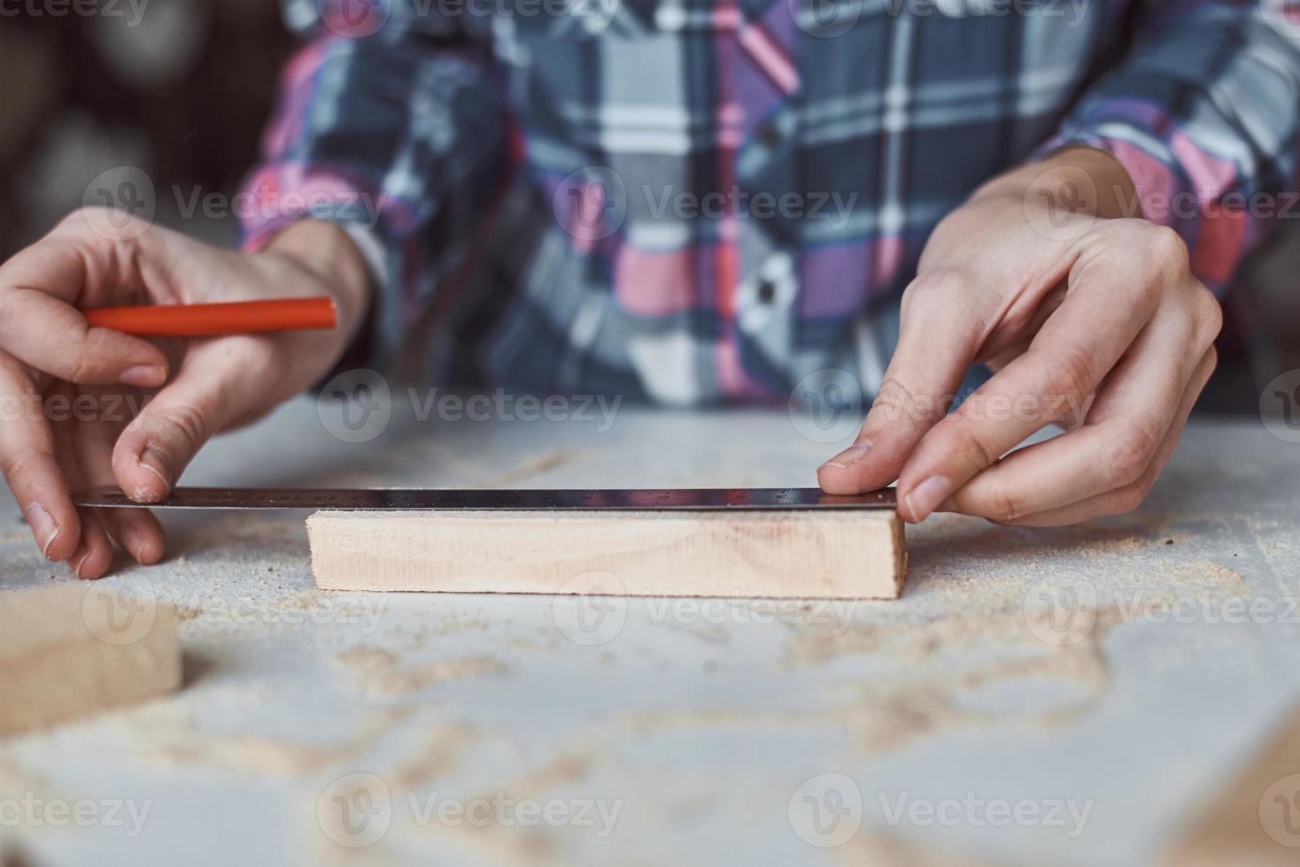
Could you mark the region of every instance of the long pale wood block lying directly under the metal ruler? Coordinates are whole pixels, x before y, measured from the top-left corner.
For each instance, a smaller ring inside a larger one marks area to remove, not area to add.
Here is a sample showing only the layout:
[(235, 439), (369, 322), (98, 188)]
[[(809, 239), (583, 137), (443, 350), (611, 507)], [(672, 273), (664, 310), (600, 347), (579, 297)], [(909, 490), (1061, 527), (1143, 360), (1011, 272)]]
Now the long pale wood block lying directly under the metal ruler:
[(890, 509), (318, 511), (307, 531), (332, 591), (894, 598), (906, 566)]

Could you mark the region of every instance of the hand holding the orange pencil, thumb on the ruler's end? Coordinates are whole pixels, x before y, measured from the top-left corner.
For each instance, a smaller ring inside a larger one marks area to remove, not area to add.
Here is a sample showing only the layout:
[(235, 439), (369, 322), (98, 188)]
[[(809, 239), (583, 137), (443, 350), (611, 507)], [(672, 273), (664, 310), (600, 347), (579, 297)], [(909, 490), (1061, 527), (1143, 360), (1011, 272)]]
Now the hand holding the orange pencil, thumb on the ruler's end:
[[(100, 578), (112, 543), (164, 554), (146, 509), (78, 509), (117, 484), (166, 497), (208, 437), (247, 424), (338, 361), (364, 318), (364, 262), (335, 226), (306, 221), (260, 253), (220, 249), (87, 209), (0, 265), (0, 470), (47, 558)], [(92, 328), (81, 309), (329, 295), (341, 327), (146, 341)]]

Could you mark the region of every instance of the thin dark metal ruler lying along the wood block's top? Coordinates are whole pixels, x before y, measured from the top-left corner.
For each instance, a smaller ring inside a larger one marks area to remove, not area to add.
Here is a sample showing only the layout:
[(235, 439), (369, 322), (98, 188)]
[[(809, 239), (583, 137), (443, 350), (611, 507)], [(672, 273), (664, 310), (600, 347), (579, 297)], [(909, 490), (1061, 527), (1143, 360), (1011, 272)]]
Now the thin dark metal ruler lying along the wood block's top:
[[(117, 488), (73, 495), (78, 506), (140, 507)], [(400, 488), (176, 488), (150, 509), (641, 511), (893, 509), (894, 489), (831, 495), (819, 488), (614, 488), (447, 491)]]

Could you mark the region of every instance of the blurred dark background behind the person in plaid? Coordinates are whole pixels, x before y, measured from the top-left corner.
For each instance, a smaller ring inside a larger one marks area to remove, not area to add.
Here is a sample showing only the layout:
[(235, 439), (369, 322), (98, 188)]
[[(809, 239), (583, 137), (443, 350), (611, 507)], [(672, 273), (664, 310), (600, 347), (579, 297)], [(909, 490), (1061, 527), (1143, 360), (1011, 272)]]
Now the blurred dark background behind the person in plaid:
[[(278, 0), (0, 0), (0, 258), (121, 166), (152, 180), (157, 222), (237, 241), (233, 217), (185, 202), (233, 193), (256, 160), (295, 47)], [(1226, 301), (1200, 411), (1256, 414), (1265, 384), (1300, 367), (1300, 219), (1279, 222)]]

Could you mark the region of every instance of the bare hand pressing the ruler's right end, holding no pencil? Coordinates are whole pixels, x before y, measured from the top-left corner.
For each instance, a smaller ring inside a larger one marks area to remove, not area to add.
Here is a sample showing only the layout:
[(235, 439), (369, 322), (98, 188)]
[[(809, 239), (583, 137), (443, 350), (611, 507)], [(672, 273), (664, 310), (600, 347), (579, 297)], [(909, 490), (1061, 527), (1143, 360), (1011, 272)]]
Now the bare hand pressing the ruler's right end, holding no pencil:
[[(1222, 313), (1173, 230), (1123, 217), (1134, 199), (1117, 161), (1075, 148), (949, 214), (904, 293), (876, 401), (822, 487), (897, 479), (909, 522), (945, 510), (1056, 526), (1135, 509), (1214, 370)], [(996, 372), (946, 414), (972, 363)], [(1053, 423), (1066, 432), (1002, 457)]]

